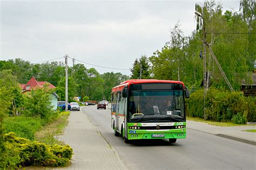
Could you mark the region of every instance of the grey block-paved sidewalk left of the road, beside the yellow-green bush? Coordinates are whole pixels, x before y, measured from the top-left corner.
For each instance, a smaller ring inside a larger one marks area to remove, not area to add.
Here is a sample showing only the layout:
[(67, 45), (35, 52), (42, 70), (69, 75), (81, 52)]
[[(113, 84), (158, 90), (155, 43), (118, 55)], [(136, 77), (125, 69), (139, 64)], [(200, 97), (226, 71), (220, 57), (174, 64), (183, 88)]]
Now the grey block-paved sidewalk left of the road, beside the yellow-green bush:
[(72, 165), (64, 169), (126, 169), (116, 150), (106, 143), (83, 111), (70, 112), (64, 135), (57, 138), (74, 152)]

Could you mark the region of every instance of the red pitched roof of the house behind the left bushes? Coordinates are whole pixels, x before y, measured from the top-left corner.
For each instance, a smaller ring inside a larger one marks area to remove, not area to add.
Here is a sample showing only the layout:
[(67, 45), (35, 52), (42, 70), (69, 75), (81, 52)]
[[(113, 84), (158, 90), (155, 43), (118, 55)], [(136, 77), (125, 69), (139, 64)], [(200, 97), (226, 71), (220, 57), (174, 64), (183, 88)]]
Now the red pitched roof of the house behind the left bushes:
[[(35, 90), (37, 88), (43, 88), (43, 85), (45, 83), (48, 83), (46, 81), (37, 81), (35, 79), (35, 77), (31, 77), (31, 79), (28, 81), (28, 83), (26, 84), (19, 84), (19, 86), (22, 88), (23, 92), (24, 91), (31, 91), (31, 90)], [(28, 89), (27, 89), (28, 87)], [(49, 88), (53, 89), (56, 88), (55, 86), (53, 86), (51, 83), (49, 83)]]

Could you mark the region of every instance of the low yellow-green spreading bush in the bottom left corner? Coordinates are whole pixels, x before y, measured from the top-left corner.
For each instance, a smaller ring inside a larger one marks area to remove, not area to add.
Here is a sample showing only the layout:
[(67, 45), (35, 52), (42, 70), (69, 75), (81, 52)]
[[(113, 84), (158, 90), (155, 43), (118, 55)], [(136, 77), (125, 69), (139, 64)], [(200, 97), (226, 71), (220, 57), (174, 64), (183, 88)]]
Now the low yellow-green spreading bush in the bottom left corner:
[(64, 166), (70, 161), (73, 150), (69, 145), (46, 145), (24, 138), (15, 133), (5, 134), (6, 155), (4, 168), (24, 166)]

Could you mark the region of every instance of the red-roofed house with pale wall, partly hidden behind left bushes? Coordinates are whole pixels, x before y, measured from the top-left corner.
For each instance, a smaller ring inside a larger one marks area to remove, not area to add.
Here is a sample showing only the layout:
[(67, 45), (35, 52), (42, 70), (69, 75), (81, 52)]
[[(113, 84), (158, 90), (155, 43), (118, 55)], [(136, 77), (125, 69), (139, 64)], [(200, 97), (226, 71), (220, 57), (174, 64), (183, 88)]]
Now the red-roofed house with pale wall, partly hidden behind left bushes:
[[(38, 88), (43, 88), (45, 83), (48, 83), (48, 82), (46, 82), (46, 81), (37, 81), (35, 79), (35, 77), (32, 77), (28, 81), (28, 83), (26, 83), (26, 84), (19, 84), (19, 86), (22, 88), (22, 93), (26, 94), (26, 93), (28, 93), (31, 90), (36, 90)], [(48, 84), (49, 84), (49, 88), (50, 89), (56, 88), (51, 83), (48, 83)], [(56, 93), (53, 92), (52, 95), (51, 95), (51, 98), (52, 98), (51, 99), (51, 103), (53, 105), (53, 109), (57, 109), (57, 101), (59, 99), (59, 96)]]

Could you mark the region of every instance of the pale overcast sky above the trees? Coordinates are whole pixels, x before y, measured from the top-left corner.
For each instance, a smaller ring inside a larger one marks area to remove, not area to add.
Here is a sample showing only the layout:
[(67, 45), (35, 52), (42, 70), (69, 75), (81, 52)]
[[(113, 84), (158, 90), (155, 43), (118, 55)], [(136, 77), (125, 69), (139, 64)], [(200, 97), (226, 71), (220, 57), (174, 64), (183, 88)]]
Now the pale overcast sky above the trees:
[[(0, 60), (64, 62), (68, 54), (70, 66), (75, 58), (100, 74), (130, 75), (136, 58), (164, 47), (175, 24), (190, 36), (194, 6), (203, 2), (0, 0)], [(239, 11), (240, 0), (215, 2)]]

